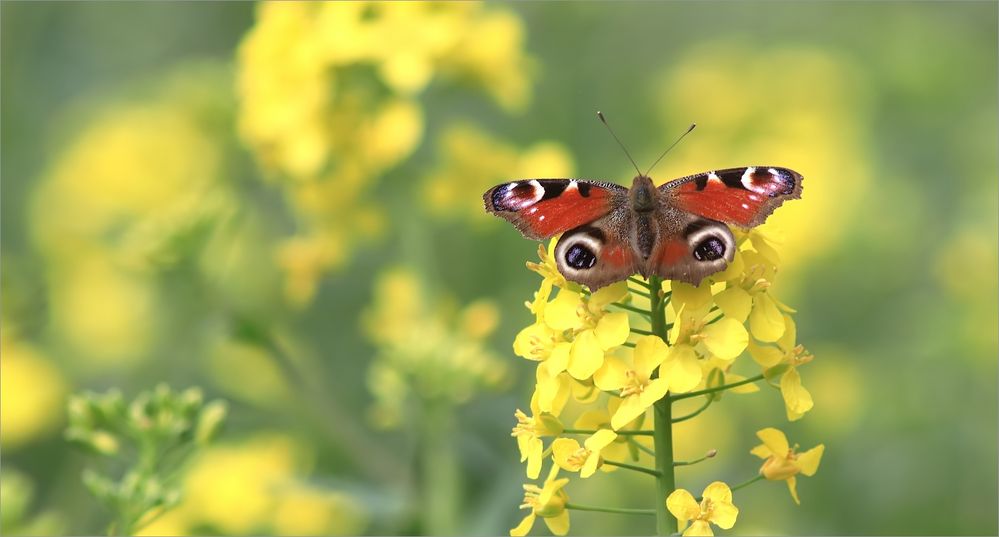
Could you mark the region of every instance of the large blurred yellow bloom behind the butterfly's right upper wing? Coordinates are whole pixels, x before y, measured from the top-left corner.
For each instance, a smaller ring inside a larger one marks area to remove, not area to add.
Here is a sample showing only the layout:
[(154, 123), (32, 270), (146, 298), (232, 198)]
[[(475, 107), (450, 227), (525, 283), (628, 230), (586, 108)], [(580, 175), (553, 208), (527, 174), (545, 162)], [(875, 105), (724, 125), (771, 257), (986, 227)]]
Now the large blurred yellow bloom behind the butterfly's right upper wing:
[[(810, 83), (748, 87), (744, 73), (757, 71)], [(801, 172), (802, 199), (767, 222), (784, 231), (783, 265), (793, 270), (842, 236), (870, 181), (865, 140), (871, 116), (862, 79), (847, 58), (815, 48), (745, 46), (734, 39), (695, 47), (670, 66), (660, 86), (667, 124), (701, 125), (698, 139), (672, 157), (670, 175), (755, 164)]]

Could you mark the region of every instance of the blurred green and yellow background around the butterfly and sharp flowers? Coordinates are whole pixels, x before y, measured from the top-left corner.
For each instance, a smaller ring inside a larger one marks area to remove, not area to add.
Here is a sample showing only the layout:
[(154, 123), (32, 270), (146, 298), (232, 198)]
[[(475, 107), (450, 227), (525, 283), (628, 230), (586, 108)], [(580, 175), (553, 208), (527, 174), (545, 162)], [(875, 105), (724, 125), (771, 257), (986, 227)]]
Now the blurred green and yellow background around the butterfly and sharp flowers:
[[(231, 412), (147, 533), (506, 533), (537, 245), (480, 196), (629, 184), (597, 109), (639, 163), (699, 124), (657, 182), (806, 177), (772, 223), (815, 409), (726, 399), (678, 427), (721, 453), (681, 484), (751, 475), (778, 425), (822, 468), (800, 507), (740, 493), (731, 533), (997, 532), (994, 2), (0, 10), (5, 533), (103, 531), (66, 398), (158, 382)], [(649, 507), (621, 474), (569, 493)]]

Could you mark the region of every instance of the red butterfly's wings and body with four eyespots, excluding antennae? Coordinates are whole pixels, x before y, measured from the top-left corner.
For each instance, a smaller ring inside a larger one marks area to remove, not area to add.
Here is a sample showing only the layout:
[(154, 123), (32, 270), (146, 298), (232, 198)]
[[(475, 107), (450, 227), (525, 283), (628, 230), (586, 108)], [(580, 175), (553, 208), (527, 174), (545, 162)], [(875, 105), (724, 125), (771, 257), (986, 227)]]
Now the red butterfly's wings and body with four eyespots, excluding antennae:
[(691, 175), (656, 187), (648, 176), (630, 189), (578, 179), (526, 179), (483, 195), (486, 210), (525, 237), (559, 233), (555, 262), (566, 279), (590, 289), (632, 274), (698, 284), (732, 261), (728, 225), (761, 224), (784, 200), (801, 197), (802, 177), (787, 168), (751, 166)]

